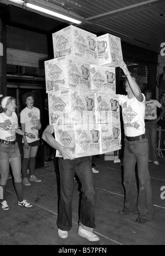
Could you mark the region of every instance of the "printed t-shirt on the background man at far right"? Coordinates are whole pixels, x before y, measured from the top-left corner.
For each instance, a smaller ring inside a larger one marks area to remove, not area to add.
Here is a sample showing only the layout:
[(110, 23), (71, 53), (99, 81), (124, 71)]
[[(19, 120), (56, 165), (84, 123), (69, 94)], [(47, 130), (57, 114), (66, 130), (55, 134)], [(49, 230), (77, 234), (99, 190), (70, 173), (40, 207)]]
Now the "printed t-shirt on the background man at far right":
[(146, 101), (146, 111), (145, 119), (154, 120), (157, 118), (157, 107), (161, 108), (162, 104), (159, 103), (156, 99), (151, 99), (148, 102)]

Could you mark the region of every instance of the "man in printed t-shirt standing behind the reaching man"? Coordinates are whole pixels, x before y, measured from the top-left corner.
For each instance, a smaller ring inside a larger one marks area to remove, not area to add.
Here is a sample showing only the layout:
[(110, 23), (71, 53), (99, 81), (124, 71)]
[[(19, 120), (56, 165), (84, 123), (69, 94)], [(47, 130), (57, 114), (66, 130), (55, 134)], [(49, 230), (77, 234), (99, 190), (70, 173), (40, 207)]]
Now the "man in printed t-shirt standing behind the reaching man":
[[(157, 100), (152, 98), (152, 90), (147, 89), (144, 91), (146, 97), (146, 110), (145, 110), (145, 129), (146, 137), (149, 141), (149, 162), (153, 162), (156, 166), (158, 162), (157, 156), (157, 122), (162, 118), (165, 113), (165, 107)], [(157, 116), (157, 108), (161, 110), (161, 114)]]

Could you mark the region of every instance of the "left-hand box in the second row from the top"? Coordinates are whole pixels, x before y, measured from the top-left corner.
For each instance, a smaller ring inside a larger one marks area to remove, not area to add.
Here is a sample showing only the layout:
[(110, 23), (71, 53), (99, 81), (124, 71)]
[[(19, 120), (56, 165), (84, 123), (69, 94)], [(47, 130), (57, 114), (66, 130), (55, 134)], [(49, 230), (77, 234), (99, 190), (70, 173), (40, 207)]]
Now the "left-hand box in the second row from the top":
[(45, 61), (46, 92), (74, 88), (91, 90), (90, 65), (67, 56)]

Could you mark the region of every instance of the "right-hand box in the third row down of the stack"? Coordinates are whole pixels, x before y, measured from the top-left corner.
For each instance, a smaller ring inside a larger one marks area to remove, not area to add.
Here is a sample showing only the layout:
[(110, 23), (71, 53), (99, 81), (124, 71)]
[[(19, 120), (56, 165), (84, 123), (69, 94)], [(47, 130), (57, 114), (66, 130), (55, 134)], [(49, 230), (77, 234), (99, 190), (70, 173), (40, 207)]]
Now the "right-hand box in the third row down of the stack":
[(117, 94), (95, 93), (96, 124), (120, 121), (119, 96)]

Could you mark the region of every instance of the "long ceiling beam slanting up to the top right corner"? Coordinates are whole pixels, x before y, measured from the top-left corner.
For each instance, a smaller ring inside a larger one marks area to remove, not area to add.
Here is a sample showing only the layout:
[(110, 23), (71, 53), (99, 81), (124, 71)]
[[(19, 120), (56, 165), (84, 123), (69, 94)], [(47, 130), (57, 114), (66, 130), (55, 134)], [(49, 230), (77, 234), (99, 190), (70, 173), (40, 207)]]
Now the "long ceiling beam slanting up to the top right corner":
[(86, 18), (85, 22), (89, 22), (89, 23), (101, 22), (102, 20), (117, 17), (119, 15), (137, 12), (139, 10), (150, 8), (150, 7), (155, 7), (162, 3), (164, 3), (164, 0), (149, 0), (146, 2), (139, 3), (139, 4), (134, 4), (132, 6), (113, 10), (112, 12), (103, 13), (100, 15), (96, 15), (94, 17)]

